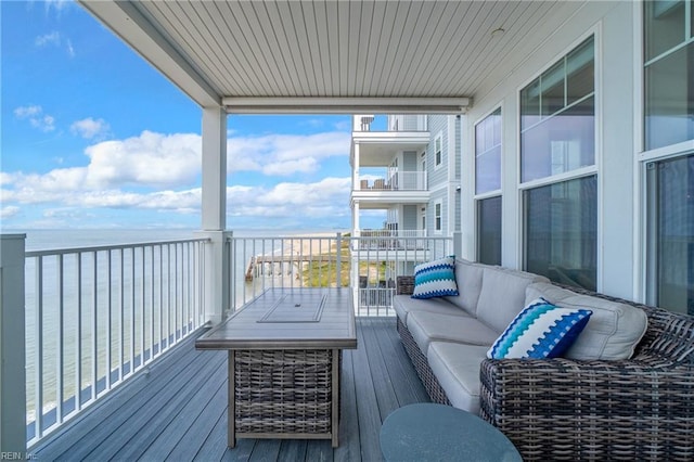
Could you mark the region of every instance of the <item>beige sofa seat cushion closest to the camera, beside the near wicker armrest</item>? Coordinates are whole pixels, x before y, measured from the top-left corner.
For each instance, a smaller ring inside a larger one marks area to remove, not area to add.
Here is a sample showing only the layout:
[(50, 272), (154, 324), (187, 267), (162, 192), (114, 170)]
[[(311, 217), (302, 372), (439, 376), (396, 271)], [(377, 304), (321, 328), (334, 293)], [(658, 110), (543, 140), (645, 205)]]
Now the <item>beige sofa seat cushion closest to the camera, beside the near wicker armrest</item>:
[(453, 407), (479, 414), (479, 364), (487, 347), (433, 342), (426, 359)]

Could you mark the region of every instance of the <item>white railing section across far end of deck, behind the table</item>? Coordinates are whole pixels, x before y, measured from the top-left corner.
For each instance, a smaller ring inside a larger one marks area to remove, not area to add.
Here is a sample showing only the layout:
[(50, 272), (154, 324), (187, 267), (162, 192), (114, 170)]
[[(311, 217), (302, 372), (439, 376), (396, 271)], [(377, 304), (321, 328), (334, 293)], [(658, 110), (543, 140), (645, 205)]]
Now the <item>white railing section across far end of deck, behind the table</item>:
[(350, 286), (357, 316), (394, 316), (397, 277), (412, 274), (416, 264), (453, 252), (450, 238), (406, 241), (412, 245), (394, 247), (390, 235), (232, 236), (227, 246), (230, 309), (269, 287)]

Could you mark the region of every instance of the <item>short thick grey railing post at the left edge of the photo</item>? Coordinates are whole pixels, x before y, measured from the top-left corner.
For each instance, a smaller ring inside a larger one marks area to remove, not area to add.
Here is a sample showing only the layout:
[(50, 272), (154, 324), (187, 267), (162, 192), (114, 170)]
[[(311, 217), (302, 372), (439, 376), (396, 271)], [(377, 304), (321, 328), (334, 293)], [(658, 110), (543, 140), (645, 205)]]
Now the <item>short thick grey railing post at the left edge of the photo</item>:
[(22, 460), (26, 457), (25, 238), (0, 235), (0, 454)]

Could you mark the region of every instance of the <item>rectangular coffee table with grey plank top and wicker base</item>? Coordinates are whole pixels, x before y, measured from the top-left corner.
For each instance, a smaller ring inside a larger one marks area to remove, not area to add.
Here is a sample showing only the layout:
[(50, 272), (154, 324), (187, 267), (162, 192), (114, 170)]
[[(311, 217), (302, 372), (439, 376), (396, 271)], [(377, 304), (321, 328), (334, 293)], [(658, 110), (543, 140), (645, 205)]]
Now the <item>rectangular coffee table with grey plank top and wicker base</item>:
[(229, 350), (228, 445), (237, 437), (338, 445), (342, 349), (357, 348), (352, 292), (269, 288), (195, 341)]

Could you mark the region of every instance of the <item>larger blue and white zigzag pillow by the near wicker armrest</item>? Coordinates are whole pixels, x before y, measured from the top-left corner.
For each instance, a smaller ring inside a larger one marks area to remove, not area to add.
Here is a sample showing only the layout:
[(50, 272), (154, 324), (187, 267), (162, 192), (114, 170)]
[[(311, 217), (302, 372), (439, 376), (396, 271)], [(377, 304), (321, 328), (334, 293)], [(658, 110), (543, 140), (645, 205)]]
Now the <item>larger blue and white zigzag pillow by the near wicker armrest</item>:
[(560, 308), (540, 297), (511, 321), (487, 357), (556, 358), (578, 338), (592, 313), (588, 309)]

